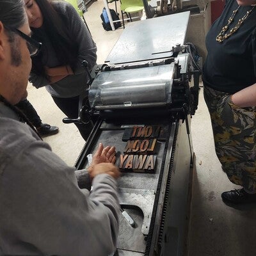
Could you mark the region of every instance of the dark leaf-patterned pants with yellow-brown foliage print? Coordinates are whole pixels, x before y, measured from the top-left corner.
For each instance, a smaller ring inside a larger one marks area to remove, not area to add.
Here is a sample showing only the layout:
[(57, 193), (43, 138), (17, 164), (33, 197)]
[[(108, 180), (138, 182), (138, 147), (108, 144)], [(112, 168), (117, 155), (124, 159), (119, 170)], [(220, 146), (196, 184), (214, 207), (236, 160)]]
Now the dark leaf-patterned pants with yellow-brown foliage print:
[(228, 179), (256, 191), (256, 107), (239, 108), (229, 93), (204, 87), (215, 150)]

